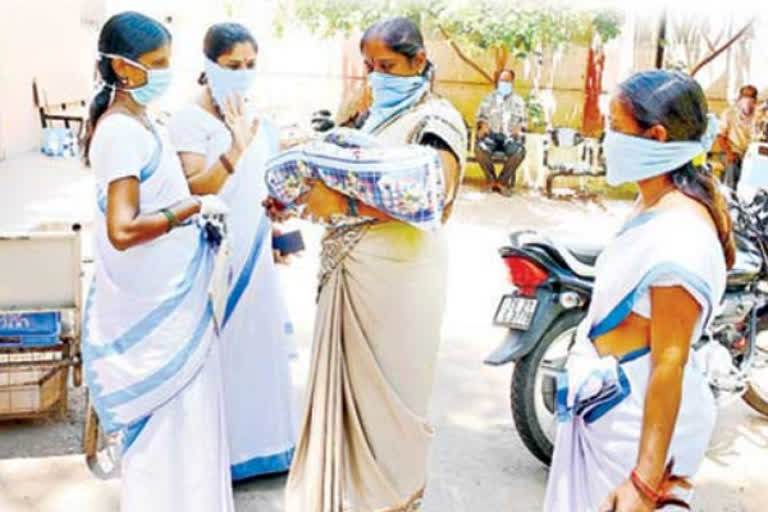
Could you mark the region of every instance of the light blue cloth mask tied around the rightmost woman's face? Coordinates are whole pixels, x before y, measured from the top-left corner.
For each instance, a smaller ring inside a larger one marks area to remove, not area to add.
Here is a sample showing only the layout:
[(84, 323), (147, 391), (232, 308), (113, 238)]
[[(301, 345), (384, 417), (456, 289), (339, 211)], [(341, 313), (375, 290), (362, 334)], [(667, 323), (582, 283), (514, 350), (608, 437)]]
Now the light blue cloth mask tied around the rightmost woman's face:
[(709, 151), (717, 128), (717, 118), (710, 114), (704, 135), (696, 141), (659, 142), (608, 129), (603, 141), (605, 180), (617, 186), (672, 172)]

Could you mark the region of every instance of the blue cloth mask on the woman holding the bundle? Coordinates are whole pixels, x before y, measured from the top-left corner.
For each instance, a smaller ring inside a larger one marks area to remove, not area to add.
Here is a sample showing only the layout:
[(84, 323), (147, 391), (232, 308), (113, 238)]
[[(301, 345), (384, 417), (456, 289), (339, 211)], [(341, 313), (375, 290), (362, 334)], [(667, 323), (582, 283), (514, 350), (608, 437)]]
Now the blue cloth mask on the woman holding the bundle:
[(429, 80), (422, 75), (399, 76), (376, 71), (368, 74), (368, 85), (373, 104), (363, 130), (371, 132), (419, 101), (429, 88)]

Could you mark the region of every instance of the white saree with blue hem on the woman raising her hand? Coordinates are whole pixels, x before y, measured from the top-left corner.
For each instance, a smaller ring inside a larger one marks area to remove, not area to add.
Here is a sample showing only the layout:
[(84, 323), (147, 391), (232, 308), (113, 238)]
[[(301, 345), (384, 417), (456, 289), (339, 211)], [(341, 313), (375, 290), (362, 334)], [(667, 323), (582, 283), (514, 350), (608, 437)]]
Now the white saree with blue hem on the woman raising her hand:
[[(250, 113), (249, 118), (255, 114)], [(196, 104), (170, 124), (174, 149), (205, 155), (210, 168), (232, 144), (226, 125)], [(296, 405), (289, 366), (293, 325), (272, 256), (265, 161), (279, 149), (266, 119), (219, 196), (230, 207), (232, 288), (224, 315), (222, 369), (232, 479), (287, 471), (296, 443)]]

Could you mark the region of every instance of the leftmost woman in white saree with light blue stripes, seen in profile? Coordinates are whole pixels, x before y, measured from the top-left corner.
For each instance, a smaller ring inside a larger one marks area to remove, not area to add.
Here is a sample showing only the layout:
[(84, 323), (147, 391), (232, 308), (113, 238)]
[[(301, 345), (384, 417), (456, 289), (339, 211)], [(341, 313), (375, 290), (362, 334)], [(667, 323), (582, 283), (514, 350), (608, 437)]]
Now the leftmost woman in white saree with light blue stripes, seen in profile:
[[(99, 36), (102, 83), (86, 159), (96, 181), (95, 270), (83, 356), (102, 428), (122, 439), (123, 512), (233, 510), (219, 339), (208, 287), (214, 250), (193, 196), (146, 111), (170, 80), (171, 35), (135, 12)], [(198, 217), (199, 218), (199, 217)]]

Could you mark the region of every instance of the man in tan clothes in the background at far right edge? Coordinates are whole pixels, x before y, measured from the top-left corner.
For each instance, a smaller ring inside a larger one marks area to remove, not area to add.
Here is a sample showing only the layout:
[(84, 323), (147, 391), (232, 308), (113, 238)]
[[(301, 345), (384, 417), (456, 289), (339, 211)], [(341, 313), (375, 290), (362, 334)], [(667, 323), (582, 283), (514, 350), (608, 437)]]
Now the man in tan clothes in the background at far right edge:
[(725, 183), (736, 189), (741, 175), (741, 161), (752, 140), (755, 127), (757, 88), (745, 85), (739, 89), (736, 104), (723, 112), (720, 121), (718, 144), (725, 153)]

